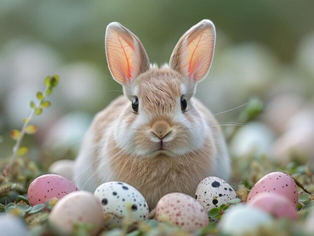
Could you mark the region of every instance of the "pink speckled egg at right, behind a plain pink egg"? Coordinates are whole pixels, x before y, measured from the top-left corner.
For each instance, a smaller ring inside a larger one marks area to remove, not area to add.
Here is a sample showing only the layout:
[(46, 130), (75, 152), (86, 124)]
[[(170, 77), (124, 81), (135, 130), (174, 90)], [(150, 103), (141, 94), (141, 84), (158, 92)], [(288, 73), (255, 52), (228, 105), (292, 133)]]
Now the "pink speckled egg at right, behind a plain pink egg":
[(284, 172), (272, 172), (259, 179), (252, 187), (247, 202), (261, 192), (274, 192), (285, 196), (296, 209), (298, 192), (293, 178)]

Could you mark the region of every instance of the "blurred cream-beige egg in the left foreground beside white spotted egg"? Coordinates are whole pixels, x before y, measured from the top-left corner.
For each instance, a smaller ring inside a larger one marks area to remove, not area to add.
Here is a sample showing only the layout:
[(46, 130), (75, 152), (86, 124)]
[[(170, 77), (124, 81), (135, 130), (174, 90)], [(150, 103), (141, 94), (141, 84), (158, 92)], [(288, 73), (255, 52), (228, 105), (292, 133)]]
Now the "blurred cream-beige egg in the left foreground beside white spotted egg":
[(49, 221), (63, 233), (71, 233), (75, 224), (91, 227), (89, 233), (97, 234), (103, 222), (99, 200), (87, 191), (75, 191), (62, 197), (52, 209)]

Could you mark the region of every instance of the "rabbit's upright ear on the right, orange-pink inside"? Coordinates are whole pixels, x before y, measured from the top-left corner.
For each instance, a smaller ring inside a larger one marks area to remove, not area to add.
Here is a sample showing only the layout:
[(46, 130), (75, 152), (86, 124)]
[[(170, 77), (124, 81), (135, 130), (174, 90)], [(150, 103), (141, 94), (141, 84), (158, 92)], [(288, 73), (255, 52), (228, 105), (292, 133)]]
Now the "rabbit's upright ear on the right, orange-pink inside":
[(180, 38), (170, 57), (170, 67), (194, 82), (201, 81), (212, 63), (215, 38), (213, 22), (203, 19)]

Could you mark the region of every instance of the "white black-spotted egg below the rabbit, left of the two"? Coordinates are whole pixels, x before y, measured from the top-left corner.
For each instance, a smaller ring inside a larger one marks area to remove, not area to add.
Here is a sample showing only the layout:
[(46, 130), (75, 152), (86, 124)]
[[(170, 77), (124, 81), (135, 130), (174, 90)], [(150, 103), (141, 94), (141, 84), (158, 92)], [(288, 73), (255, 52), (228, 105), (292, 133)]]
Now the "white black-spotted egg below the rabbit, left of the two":
[(122, 217), (129, 215), (134, 221), (148, 218), (149, 208), (145, 198), (133, 186), (124, 182), (106, 182), (98, 186), (94, 195), (102, 204), (105, 214), (110, 216), (107, 226), (120, 226)]

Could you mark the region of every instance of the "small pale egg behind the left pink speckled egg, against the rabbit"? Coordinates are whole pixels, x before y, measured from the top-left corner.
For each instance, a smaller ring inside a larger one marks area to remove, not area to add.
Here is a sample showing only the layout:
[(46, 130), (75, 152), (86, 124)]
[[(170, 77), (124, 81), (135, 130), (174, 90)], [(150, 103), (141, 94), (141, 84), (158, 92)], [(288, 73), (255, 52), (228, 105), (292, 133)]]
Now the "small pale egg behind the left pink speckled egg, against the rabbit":
[(73, 179), (74, 160), (57, 160), (49, 166), (49, 173), (59, 174), (68, 179)]

